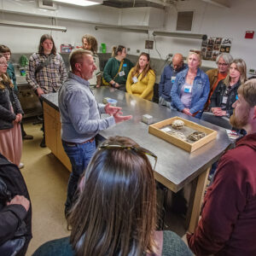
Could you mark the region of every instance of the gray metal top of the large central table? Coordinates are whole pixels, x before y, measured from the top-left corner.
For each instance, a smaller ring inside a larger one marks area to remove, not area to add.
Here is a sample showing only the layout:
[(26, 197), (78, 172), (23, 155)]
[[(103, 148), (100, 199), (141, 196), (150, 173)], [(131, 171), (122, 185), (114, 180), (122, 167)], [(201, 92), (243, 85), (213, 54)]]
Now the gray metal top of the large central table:
[[(93, 90), (93, 93), (96, 96), (97, 102), (102, 102), (104, 97), (113, 98), (118, 101), (117, 106), (122, 108), (124, 115), (133, 115), (133, 119), (115, 125), (108, 130), (101, 131), (100, 135), (103, 138), (116, 135), (131, 137), (143, 148), (148, 148), (154, 152), (158, 156), (154, 173), (155, 178), (174, 192), (182, 189), (187, 183), (198, 177), (207, 167), (218, 160), (224, 150), (230, 146), (230, 139), (225, 129), (217, 125), (195, 119), (194, 117), (110, 87), (101, 87)], [(44, 95), (43, 100), (58, 110), (57, 93)], [(167, 143), (159, 137), (149, 134), (148, 125), (141, 122), (143, 114), (146, 113), (153, 116), (154, 123), (179, 116), (218, 131), (218, 136), (212, 142), (189, 153), (182, 148), (177, 148), (172, 143)], [(154, 159), (149, 160), (151, 163), (154, 163)]]

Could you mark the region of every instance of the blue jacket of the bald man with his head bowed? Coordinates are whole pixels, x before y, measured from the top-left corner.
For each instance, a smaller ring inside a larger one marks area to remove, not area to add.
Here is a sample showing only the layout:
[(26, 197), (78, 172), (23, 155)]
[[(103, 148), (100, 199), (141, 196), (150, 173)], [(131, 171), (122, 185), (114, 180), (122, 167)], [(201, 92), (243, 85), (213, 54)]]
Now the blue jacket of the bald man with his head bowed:
[(183, 67), (181, 67), (178, 71), (175, 71), (171, 65), (167, 65), (164, 68), (163, 73), (161, 74), (161, 79), (159, 83), (159, 96), (163, 97), (167, 102), (172, 101), (171, 97), (171, 89), (172, 89), (172, 77), (176, 77), (177, 73), (180, 73), (185, 68), (187, 68), (187, 64), (183, 64)]

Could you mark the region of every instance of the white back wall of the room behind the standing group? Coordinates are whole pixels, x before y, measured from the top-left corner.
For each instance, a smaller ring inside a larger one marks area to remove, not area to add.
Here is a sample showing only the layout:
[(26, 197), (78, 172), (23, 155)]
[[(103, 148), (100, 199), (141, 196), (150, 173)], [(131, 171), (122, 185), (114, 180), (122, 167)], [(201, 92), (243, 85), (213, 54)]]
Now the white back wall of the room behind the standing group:
[[(48, 11), (37, 10), (37, 15), (41, 17), (32, 16), (36, 11), (31, 11), (27, 14), (27, 9), (24, 8), (24, 1), (16, 2), (14, 0), (4, 1), (3, 9), (15, 12), (15, 14), (2, 13), (2, 18), (5, 20), (24, 21), (32, 23), (41, 23), (51, 25), (52, 20), (49, 17), (43, 17), (44, 14), (49, 15)], [(19, 5), (22, 3), (22, 5)], [(27, 2), (32, 8), (32, 2)], [(230, 1), (231, 8), (220, 8), (210, 3), (202, 2), (201, 0), (189, 0), (179, 2), (177, 7), (170, 7), (166, 9), (166, 24), (165, 27), (160, 27), (160, 31), (175, 32), (177, 10), (195, 10), (195, 17), (192, 26), (192, 32), (194, 33), (206, 33), (208, 36), (216, 37), (228, 37), (233, 38), (230, 54), (234, 57), (241, 57), (247, 62), (247, 68), (256, 69), (256, 58), (254, 58), (256, 42), (255, 38), (245, 39), (244, 35), (247, 30), (256, 29), (256, 1), (254, 0), (232, 0)], [(33, 5), (34, 7), (34, 5)], [(17, 14), (26, 15), (19, 15)], [(55, 11), (56, 12), (56, 11)], [(119, 14), (122, 14), (123, 10), (108, 8), (105, 6), (98, 6), (89, 9), (78, 9), (71, 6), (63, 6), (57, 11), (58, 26), (67, 26), (67, 33), (64, 32), (52, 32), (55, 38), (55, 44), (60, 49), (60, 44), (73, 44), (80, 43), (80, 39), (84, 33), (91, 33), (96, 36), (99, 44), (106, 43), (108, 52), (111, 51), (113, 44), (125, 44), (125, 46), (131, 48), (131, 53), (136, 54), (136, 50), (140, 49), (145, 51), (144, 45), (146, 39), (154, 40), (152, 36), (153, 28), (149, 35), (131, 33), (131, 32), (113, 32), (98, 30), (95, 31), (94, 26), (88, 24), (90, 22), (102, 23), (102, 24), (120, 24)], [(132, 9), (131, 9), (132, 12)], [(131, 15), (131, 24), (141, 26), (142, 15), (144, 13), (136, 13), (137, 15)], [(62, 20), (67, 15), (68, 19)], [(137, 18), (138, 17), (138, 18)], [(158, 14), (150, 16), (150, 20), (162, 19), (163, 17)], [(77, 19), (78, 21), (73, 21)], [(125, 18), (125, 25), (127, 25), (127, 18)], [(86, 22), (82, 22), (84, 20)], [(149, 24), (150, 24), (149, 20)], [(137, 21), (137, 22), (136, 22)], [(54, 24), (55, 25), (55, 24)], [(149, 28), (150, 29), (150, 28)], [(155, 29), (157, 30), (157, 29)], [(13, 50), (13, 52), (33, 52), (38, 48), (38, 41), (42, 34), (47, 33), (47, 30), (35, 30), (25, 28), (15, 28), (0, 26), (1, 32), (1, 44), (7, 44)], [(187, 55), (189, 49), (201, 49), (201, 40), (185, 39), (185, 38), (165, 38), (156, 37), (157, 49), (160, 51), (160, 55), (163, 59), (169, 53), (181, 52), (183, 55)], [(148, 50), (147, 50), (148, 51)], [(155, 49), (149, 51), (153, 57), (159, 57)], [(203, 61), (203, 64), (207, 67), (215, 67), (213, 61)]]

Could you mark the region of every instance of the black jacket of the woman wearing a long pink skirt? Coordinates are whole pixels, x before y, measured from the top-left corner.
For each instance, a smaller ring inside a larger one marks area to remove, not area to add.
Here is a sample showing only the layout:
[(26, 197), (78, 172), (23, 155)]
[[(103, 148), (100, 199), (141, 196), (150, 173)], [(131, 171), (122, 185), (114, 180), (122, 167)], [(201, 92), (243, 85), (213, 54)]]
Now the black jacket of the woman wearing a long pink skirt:
[[(0, 130), (5, 130), (14, 127), (13, 121), (17, 113), (24, 113), (15, 90), (9, 86), (9, 83), (2, 83), (5, 89), (0, 89)], [(10, 104), (14, 108), (14, 113), (11, 111)]]

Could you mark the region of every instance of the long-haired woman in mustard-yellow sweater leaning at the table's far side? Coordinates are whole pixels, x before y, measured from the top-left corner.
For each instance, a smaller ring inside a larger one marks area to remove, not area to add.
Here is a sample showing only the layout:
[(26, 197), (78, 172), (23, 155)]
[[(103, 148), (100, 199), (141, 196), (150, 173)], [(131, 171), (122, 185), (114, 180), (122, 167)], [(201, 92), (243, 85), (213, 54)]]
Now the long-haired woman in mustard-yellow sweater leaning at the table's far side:
[(128, 93), (145, 100), (152, 100), (154, 93), (155, 73), (150, 67), (150, 57), (143, 52), (135, 67), (131, 68), (126, 81)]

